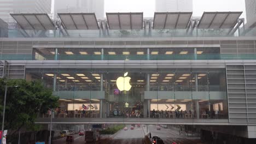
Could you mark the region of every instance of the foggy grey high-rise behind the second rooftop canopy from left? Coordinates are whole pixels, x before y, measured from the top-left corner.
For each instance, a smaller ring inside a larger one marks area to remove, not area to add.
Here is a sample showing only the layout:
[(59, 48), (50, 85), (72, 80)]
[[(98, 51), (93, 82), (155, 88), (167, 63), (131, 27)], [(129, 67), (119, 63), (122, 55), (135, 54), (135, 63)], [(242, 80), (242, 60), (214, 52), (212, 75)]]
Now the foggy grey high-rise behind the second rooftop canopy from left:
[(55, 0), (54, 19), (57, 13), (95, 13), (97, 19), (102, 19), (104, 0)]

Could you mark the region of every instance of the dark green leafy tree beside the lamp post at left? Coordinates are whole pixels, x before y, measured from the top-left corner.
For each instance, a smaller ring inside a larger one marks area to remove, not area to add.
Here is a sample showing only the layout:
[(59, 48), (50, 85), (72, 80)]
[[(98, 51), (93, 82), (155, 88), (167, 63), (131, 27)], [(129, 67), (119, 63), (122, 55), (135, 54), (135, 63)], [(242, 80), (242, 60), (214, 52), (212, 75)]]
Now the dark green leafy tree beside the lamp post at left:
[[(0, 79), (1, 120), (5, 84), (5, 79)], [(59, 98), (53, 96), (51, 89), (45, 88), (40, 81), (8, 80), (7, 86), (4, 129), (11, 133), (21, 128), (37, 130), (38, 125), (34, 122), (38, 114), (57, 107)]]

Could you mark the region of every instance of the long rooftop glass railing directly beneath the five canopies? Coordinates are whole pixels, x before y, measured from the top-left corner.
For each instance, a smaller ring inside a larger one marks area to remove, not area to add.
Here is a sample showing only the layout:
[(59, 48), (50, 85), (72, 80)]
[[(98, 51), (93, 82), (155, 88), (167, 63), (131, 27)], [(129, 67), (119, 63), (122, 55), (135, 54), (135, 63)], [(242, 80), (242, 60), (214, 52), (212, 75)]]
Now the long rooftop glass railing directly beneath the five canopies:
[(6, 38), (140, 38), (140, 37), (245, 37), (256, 36), (256, 28), (240, 29), (120, 29), (120, 30), (33, 30), (8, 29)]

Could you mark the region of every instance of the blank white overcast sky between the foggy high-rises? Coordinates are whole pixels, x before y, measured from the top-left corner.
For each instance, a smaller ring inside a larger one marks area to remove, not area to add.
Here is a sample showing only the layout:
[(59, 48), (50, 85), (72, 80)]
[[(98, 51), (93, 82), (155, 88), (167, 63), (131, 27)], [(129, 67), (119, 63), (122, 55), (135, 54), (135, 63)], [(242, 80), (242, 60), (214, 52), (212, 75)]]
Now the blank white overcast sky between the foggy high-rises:
[[(153, 17), (155, 0), (105, 0), (105, 12), (143, 12), (144, 17)], [(203, 11), (243, 11), (246, 17), (245, 0), (193, 0), (193, 16), (202, 16)]]

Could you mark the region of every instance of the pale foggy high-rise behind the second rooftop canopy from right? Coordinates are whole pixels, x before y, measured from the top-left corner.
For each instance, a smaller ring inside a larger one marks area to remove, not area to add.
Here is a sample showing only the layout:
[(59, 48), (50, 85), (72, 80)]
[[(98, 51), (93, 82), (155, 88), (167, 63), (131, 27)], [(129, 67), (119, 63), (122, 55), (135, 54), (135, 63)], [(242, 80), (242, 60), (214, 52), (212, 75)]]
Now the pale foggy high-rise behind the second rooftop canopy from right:
[(193, 0), (155, 0), (156, 12), (193, 11)]

